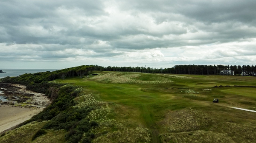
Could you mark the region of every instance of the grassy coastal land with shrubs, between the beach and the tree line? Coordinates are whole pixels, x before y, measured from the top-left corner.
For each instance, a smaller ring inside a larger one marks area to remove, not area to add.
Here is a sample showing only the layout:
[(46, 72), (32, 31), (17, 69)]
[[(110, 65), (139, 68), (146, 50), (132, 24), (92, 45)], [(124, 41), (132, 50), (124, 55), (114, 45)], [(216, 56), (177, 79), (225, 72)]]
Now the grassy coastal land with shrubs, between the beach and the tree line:
[(45, 81), (58, 96), (0, 142), (256, 142), (256, 112), (232, 108), (256, 110), (255, 77), (96, 73)]

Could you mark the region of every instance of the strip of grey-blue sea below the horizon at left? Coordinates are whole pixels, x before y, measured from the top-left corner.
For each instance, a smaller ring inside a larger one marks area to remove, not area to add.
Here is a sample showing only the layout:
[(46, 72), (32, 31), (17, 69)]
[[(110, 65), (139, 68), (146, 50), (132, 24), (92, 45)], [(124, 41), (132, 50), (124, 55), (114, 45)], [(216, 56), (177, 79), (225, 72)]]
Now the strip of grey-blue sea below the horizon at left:
[(4, 78), (6, 76), (20, 76), (24, 73), (39, 73), (39, 72), (46, 72), (46, 71), (55, 71), (53, 69), (47, 70), (47, 69), (0, 69), (3, 70), (3, 72), (6, 73), (0, 73), (0, 79)]

